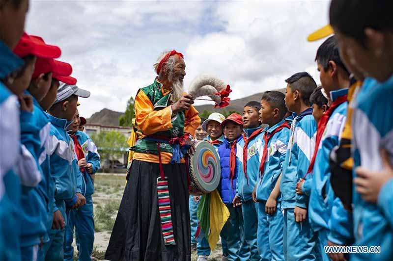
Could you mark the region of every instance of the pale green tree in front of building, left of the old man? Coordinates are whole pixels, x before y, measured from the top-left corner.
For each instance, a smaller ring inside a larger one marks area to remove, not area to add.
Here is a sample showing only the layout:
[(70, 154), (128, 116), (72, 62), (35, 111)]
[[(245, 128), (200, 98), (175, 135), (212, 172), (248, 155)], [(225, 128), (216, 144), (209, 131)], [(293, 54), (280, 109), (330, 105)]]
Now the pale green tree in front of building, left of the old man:
[(118, 131), (101, 131), (98, 134), (92, 134), (90, 138), (97, 146), (101, 162), (109, 162), (111, 169), (113, 169), (114, 161), (123, 157), (128, 150), (127, 138)]

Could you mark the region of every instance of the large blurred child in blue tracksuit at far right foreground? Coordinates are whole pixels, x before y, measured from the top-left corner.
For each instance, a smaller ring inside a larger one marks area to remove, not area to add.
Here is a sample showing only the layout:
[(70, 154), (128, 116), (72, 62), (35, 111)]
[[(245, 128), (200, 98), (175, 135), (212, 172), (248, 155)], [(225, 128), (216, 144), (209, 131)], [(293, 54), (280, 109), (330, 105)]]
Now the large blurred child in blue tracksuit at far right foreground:
[[(349, 15), (346, 12), (345, 20), (356, 23), (341, 19), (342, 8), (348, 6), (351, 12)], [(332, 1), (330, 8), (330, 24), (340, 39), (340, 48), (345, 47), (340, 50), (341, 58), (372, 77), (365, 78), (350, 104), (354, 159), (352, 216), (354, 245), (381, 249), (380, 253), (353, 253), (351, 261), (388, 261), (393, 256), (392, 8), (392, 1), (353, 0)]]

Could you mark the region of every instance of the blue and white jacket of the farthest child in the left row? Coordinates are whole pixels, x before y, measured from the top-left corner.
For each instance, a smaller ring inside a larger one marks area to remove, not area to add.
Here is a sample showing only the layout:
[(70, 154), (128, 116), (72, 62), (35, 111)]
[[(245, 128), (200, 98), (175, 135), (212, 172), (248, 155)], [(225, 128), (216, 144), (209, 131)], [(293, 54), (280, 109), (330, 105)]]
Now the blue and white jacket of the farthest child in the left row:
[[(91, 174), (95, 174), (100, 168), (100, 155), (98, 154), (97, 147), (86, 133), (78, 130), (75, 135), (77, 136), (79, 144), (81, 144), (86, 162), (91, 163), (93, 166)], [(82, 194), (85, 197), (91, 196), (94, 193), (93, 178), (87, 171), (82, 172), (82, 177)]]

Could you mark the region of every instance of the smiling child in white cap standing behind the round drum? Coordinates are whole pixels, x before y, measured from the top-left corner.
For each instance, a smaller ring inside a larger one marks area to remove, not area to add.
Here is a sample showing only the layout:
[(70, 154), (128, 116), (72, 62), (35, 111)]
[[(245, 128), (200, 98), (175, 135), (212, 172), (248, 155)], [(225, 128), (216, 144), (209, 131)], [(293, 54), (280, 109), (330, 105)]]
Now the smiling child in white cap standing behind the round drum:
[[(218, 151), (218, 148), (224, 142), (224, 134), (223, 127), (221, 123), (225, 120), (223, 114), (218, 112), (213, 112), (209, 115), (207, 120), (202, 123), (202, 128), (208, 134), (208, 136), (204, 139), (213, 145), (213, 147)], [(207, 257), (210, 255), (210, 246), (209, 242), (205, 237), (204, 231), (200, 230), (198, 238), (197, 238), (197, 253), (198, 253), (198, 261), (207, 261)], [(223, 256), (227, 256), (227, 249), (225, 241), (222, 240), (223, 244)]]

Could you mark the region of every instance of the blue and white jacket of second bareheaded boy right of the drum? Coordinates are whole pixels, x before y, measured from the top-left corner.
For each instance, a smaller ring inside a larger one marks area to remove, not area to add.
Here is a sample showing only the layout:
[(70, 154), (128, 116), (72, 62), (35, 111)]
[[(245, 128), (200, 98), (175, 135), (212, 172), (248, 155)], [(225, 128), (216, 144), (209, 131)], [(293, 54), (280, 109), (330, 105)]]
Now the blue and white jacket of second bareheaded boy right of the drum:
[[(266, 127), (262, 132), (263, 135), (265, 135), (266, 132), (273, 132), (283, 123), (284, 120), (270, 128)], [(290, 130), (288, 128), (284, 128), (275, 133), (268, 142), (268, 154), (265, 160), (265, 168), (263, 173), (258, 173), (256, 182), (255, 193), (257, 200), (267, 201), (270, 193), (272, 193), (272, 190), (277, 183), (285, 161), (286, 150), (289, 141), (289, 132)], [(264, 147), (265, 141), (262, 139), (262, 153), (259, 155), (259, 162), (261, 161)], [(277, 199), (277, 201), (281, 201), (281, 196)]]

